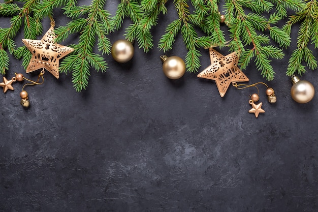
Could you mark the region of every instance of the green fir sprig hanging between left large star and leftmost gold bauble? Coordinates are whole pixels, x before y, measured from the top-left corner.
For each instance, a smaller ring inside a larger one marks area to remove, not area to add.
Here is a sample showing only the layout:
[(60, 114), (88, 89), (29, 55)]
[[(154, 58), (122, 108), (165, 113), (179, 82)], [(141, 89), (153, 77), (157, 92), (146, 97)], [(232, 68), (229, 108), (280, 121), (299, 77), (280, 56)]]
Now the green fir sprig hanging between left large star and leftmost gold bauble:
[(59, 69), (65, 73), (72, 72), (72, 82), (80, 92), (88, 85), (90, 67), (102, 72), (108, 68), (103, 56), (94, 53), (93, 48), (97, 43), (102, 54), (110, 53), (111, 43), (107, 35), (113, 31), (114, 25), (111, 14), (104, 10), (106, 0), (93, 0), (89, 6), (76, 6), (75, 3), (73, 1), (63, 8), (65, 14), (74, 20), (55, 29), (55, 40), (60, 42), (70, 34), (80, 33), (78, 44), (71, 45), (75, 51), (62, 60)]

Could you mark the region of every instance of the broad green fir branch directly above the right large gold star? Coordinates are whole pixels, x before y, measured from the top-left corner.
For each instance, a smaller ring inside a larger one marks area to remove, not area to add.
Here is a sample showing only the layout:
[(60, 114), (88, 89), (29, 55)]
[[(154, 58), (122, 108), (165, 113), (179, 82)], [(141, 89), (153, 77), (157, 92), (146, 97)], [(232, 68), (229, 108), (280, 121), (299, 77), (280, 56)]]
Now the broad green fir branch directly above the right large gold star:
[[(276, 5), (276, 13), (264, 17), (263, 13), (270, 13)], [(231, 42), (230, 50), (241, 51), (239, 64), (245, 69), (252, 58), (261, 75), (267, 80), (274, 79), (274, 70), (270, 58), (281, 59), (284, 54), (281, 48), (290, 45), (290, 36), (275, 26), (279, 20), (287, 15), (286, 9), (301, 10), (304, 7), (300, 1), (244, 1), (227, 0), (225, 4), (226, 23), (229, 26)], [(245, 8), (252, 12), (246, 14)], [(260, 33), (261, 32), (261, 33)], [(269, 32), (265, 34), (265, 32)], [(270, 38), (281, 48), (270, 45)], [(251, 46), (251, 48), (249, 48)]]

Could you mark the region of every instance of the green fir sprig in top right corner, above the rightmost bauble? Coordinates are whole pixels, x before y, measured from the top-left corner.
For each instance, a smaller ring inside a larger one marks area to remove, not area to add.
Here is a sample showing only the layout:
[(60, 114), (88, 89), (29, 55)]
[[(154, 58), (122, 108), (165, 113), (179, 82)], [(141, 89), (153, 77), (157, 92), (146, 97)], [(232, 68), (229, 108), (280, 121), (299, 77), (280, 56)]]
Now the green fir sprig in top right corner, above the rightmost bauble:
[(309, 69), (317, 68), (317, 60), (309, 49), (309, 40), (314, 44), (314, 48), (318, 47), (318, 3), (317, 1), (309, 1), (301, 12), (290, 16), (289, 21), (283, 26), (287, 34), (291, 34), (292, 25), (301, 22), (298, 37), (297, 49), (295, 49), (289, 59), (289, 65), (286, 74), (292, 76), (294, 73), (302, 75), (306, 72), (305, 62)]

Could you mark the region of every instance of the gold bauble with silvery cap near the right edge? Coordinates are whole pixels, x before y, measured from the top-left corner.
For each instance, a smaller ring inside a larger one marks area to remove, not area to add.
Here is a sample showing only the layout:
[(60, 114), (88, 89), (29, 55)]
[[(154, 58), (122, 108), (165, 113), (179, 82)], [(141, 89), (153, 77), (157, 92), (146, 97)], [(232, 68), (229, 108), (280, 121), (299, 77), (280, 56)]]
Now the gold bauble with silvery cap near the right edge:
[(295, 75), (292, 76), (292, 82), (291, 95), (293, 100), (302, 104), (312, 100), (314, 96), (314, 87), (310, 82), (300, 80)]

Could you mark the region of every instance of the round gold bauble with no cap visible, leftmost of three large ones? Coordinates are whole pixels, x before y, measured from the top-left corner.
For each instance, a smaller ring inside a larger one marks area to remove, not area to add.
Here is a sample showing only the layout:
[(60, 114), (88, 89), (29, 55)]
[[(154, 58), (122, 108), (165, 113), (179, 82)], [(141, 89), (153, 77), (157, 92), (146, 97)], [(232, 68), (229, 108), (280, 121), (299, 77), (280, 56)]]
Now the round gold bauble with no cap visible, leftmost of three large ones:
[(126, 63), (134, 56), (134, 46), (131, 42), (121, 39), (113, 44), (111, 53), (117, 62)]

